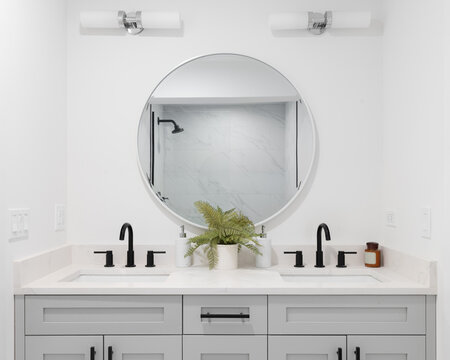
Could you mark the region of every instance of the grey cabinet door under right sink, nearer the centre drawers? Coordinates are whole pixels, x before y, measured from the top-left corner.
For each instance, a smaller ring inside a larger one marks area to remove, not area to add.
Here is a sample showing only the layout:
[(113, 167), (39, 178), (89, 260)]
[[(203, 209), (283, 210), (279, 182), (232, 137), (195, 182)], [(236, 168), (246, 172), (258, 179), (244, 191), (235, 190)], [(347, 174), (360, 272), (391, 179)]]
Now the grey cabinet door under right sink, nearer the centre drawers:
[(345, 360), (346, 346), (345, 336), (269, 336), (269, 360)]

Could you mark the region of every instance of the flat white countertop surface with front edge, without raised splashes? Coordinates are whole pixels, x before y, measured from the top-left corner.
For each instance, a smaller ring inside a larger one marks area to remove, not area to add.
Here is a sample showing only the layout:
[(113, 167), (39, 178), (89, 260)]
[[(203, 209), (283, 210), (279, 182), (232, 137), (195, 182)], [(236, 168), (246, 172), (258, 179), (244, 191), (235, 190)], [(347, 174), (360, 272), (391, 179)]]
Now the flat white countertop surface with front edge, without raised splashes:
[[(80, 277), (81, 275), (81, 277)], [(87, 276), (86, 276), (87, 275)], [(300, 275), (287, 281), (283, 275)], [(142, 280), (139, 280), (142, 277)], [(337, 277), (335, 280), (333, 277)], [(354, 281), (352, 277), (357, 280)], [(81, 280), (73, 281), (80, 278)], [(86, 278), (83, 280), (83, 278)], [(92, 280), (90, 279), (92, 278)], [(102, 281), (102, 278), (104, 281)], [(113, 280), (111, 281), (112, 278)], [(123, 278), (123, 280), (122, 280)], [(156, 280), (152, 280), (152, 279)], [(316, 280), (317, 278), (317, 280)], [(323, 280), (325, 278), (325, 280)], [(365, 278), (372, 281), (366, 282)], [(117, 280), (118, 279), (118, 280)], [(137, 280), (136, 280), (137, 279)], [(146, 279), (149, 279), (148, 281)], [(358, 281), (362, 279), (362, 281)], [(244, 268), (208, 270), (154, 268), (125, 269), (72, 265), (26, 284), (16, 294), (306, 294), (373, 295), (433, 294), (420, 283), (387, 269), (288, 269)]]

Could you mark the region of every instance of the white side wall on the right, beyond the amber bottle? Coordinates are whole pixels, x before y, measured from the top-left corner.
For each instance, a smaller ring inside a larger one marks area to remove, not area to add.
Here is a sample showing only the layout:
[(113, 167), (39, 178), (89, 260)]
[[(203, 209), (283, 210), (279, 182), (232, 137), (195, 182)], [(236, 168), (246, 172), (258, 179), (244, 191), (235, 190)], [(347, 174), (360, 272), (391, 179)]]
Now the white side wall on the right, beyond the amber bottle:
[[(386, 0), (384, 4), (381, 214), (395, 211), (397, 226), (386, 227), (380, 216), (380, 240), (439, 260), (438, 358), (444, 360), (450, 351), (448, 107), (444, 113), (444, 88), (450, 81), (445, 84), (443, 45), (450, 33), (444, 35), (445, 1)], [(431, 239), (421, 237), (423, 207), (432, 209)]]

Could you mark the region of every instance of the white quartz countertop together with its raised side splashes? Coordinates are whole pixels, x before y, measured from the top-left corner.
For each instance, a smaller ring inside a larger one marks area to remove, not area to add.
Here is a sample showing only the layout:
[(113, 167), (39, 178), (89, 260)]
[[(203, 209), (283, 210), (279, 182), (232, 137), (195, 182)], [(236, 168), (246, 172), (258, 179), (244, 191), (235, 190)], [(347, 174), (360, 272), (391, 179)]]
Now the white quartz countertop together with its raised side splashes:
[[(155, 268), (77, 264), (73, 249), (24, 259), (16, 263), (16, 295), (434, 295), (435, 263), (415, 262), (414, 271), (398, 266), (377, 269), (361, 265), (336, 268), (295, 268), (280, 264), (268, 269), (247, 266), (209, 270), (205, 266)], [(401, 259), (397, 259), (401, 260)], [(34, 270), (34, 271), (33, 271)]]

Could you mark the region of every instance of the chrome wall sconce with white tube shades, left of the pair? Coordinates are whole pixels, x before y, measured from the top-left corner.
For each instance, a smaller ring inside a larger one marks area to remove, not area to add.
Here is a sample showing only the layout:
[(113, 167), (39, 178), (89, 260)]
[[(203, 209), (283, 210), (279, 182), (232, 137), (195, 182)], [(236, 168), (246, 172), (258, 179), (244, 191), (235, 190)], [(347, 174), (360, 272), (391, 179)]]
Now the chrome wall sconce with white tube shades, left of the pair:
[(126, 29), (138, 35), (145, 29), (178, 30), (181, 28), (179, 13), (120, 11), (92, 11), (80, 14), (80, 24), (86, 29)]

